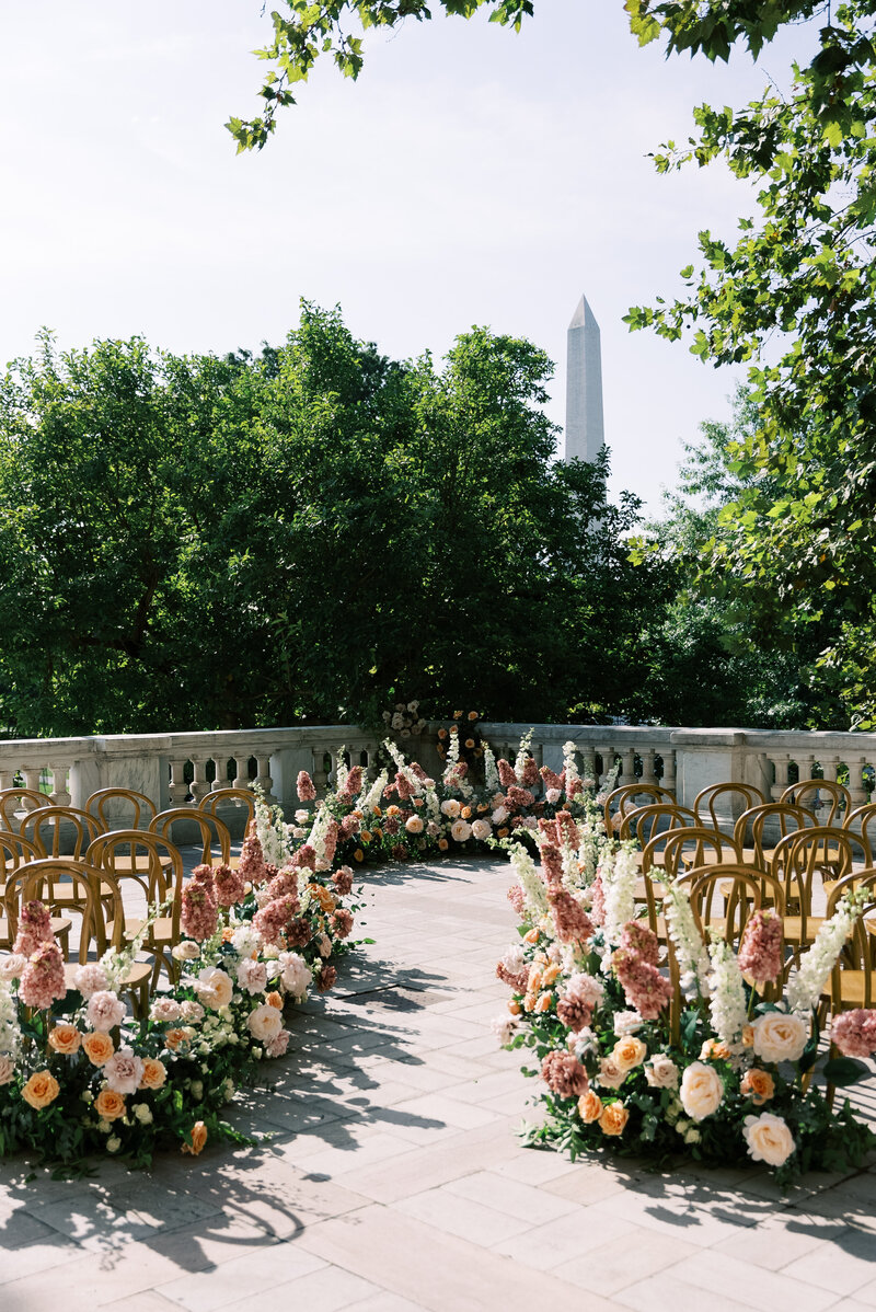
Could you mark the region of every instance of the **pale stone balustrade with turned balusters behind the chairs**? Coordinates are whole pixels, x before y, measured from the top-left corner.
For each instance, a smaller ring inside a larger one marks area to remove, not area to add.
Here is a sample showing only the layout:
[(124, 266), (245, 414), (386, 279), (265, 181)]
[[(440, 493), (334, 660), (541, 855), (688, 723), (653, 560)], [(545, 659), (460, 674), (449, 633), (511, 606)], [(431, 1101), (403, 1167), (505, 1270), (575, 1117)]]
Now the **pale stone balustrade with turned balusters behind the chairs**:
[[(401, 745), (431, 773), (441, 770), (437, 726)], [(497, 756), (513, 758), (528, 724), (480, 726)], [(797, 779), (846, 782), (855, 806), (873, 790), (876, 733), (816, 733), (736, 728), (664, 728), (631, 724), (538, 724), (532, 750), (539, 765), (560, 770), (563, 745), (576, 744), (578, 768), (602, 786), (660, 782), (691, 806), (709, 783), (753, 783), (778, 798)], [(258, 783), (286, 811), (298, 806), (295, 779), (307, 770), (323, 794), (334, 760), (374, 770), (379, 737), (350, 726), (235, 729), (209, 733), (131, 733), (76, 739), (0, 741), (0, 789), (41, 789), (52, 803), (81, 807), (105, 787), (134, 789), (160, 810), (197, 806), (210, 791)], [(728, 815), (728, 819), (732, 816)]]

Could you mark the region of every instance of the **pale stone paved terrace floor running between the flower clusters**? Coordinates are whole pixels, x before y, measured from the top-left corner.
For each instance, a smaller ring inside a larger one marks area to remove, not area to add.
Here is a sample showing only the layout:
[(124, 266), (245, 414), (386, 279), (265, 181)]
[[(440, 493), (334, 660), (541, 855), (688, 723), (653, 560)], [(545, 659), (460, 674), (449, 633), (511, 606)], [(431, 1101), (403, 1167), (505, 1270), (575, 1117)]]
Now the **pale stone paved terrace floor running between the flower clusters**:
[[(876, 1174), (574, 1165), (519, 1147), (531, 1086), (490, 1019), (513, 935), (490, 861), (367, 874), (376, 939), (292, 1019), (252, 1149), (0, 1164), (3, 1312), (876, 1308)], [(532, 1113), (530, 1113), (532, 1115)]]

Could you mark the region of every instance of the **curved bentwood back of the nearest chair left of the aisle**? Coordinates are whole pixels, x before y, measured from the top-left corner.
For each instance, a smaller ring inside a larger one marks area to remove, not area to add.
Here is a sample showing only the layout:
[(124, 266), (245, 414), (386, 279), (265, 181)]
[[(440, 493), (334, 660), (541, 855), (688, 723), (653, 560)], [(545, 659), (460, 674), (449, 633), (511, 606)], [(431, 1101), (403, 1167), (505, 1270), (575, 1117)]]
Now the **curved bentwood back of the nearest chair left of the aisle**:
[[(79, 917), (79, 947), (67, 951), (67, 959), (84, 964), (93, 951), (97, 956), (111, 947), (122, 947), (122, 895), (118, 884), (105, 872), (84, 861), (70, 857), (46, 857), (21, 866), (7, 880), (4, 905), (9, 921), (9, 935), (14, 942), (18, 933), (18, 912), (22, 903), (38, 900), (51, 911), (55, 895), (63, 887), (63, 912)], [(109, 903), (108, 909), (105, 904)], [(114, 933), (108, 933), (108, 920)], [(63, 950), (62, 943), (62, 950)]]

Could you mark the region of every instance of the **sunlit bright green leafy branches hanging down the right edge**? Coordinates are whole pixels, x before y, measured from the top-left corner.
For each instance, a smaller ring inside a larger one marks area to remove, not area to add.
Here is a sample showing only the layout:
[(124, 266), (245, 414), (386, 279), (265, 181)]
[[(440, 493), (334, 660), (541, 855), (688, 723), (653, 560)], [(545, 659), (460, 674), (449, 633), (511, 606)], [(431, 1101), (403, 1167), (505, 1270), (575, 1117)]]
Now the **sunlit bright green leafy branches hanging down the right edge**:
[[(629, 0), (640, 39), (727, 58), (757, 52), (784, 22), (824, 5)], [(758, 186), (755, 218), (728, 243), (699, 237), (674, 303), (632, 310), (715, 365), (750, 362), (757, 422), (729, 451), (737, 495), (703, 568), (745, 586), (759, 628), (821, 630), (818, 678), (846, 723), (876, 723), (876, 51), (873, 0), (810, 29), (812, 58), (742, 109), (695, 112), (698, 135), (657, 155), (662, 172), (723, 159)], [(805, 642), (805, 639), (804, 639)]]

